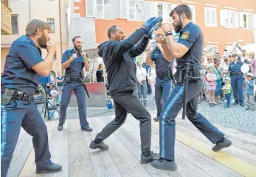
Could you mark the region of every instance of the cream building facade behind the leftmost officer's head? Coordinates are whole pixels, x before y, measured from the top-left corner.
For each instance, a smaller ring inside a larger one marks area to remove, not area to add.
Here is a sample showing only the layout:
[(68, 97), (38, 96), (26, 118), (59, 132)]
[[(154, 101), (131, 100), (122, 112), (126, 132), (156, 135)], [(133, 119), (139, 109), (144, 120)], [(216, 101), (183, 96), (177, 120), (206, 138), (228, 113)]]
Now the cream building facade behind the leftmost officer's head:
[[(1, 73), (4, 70), (6, 55), (11, 44), (19, 36), (25, 35), (27, 24), (32, 19), (40, 19), (50, 24), (51, 41), (57, 44), (52, 74), (61, 72), (61, 56), (63, 51), (68, 49), (66, 0), (9, 0), (9, 4), (12, 11), (10, 14), (11, 31), (9, 35), (1, 33)], [(46, 57), (45, 50), (43, 50), (44, 57)]]

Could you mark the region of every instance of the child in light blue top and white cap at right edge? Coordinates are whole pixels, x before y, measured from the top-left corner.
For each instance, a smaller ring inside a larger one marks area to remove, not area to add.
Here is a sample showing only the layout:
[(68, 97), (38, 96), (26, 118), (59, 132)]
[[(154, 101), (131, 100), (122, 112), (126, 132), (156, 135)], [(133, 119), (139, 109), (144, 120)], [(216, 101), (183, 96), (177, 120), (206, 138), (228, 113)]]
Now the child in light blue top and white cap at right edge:
[(254, 75), (251, 72), (248, 72), (246, 74), (246, 80), (244, 80), (244, 84), (244, 94), (246, 96), (246, 110), (249, 110), (251, 108), (252, 111), (255, 111), (255, 81)]

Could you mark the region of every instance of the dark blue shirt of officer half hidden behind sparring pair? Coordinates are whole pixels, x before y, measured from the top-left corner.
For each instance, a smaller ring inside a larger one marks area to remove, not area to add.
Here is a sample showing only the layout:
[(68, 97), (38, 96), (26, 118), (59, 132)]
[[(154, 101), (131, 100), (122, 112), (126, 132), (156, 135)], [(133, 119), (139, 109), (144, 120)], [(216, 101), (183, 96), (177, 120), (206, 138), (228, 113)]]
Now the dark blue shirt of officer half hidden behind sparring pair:
[(156, 74), (165, 73), (170, 70), (170, 62), (165, 60), (161, 51), (157, 47), (151, 53), (151, 60), (156, 64)]

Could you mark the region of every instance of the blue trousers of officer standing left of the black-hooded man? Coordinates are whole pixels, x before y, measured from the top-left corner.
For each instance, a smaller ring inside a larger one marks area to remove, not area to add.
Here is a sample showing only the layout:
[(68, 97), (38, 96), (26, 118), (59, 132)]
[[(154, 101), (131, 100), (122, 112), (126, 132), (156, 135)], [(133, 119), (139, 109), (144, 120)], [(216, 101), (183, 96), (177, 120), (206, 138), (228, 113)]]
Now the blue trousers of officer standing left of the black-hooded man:
[(81, 127), (88, 125), (86, 119), (86, 91), (84, 86), (79, 82), (64, 83), (62, 97), (60, 102), (60, 120), (59, 124), (63, 125), (66, 119), (66, 108), (68, 108), (72, 91), (75, 91), (77, 97), (78, 113)]

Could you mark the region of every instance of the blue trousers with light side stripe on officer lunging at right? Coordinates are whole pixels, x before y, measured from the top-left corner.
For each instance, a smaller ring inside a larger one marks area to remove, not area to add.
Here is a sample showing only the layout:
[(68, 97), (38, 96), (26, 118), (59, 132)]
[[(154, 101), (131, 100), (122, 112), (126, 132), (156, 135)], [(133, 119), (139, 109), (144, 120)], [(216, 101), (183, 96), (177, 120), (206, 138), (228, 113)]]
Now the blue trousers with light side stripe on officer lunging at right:
[[(186, 116), (212, 143), (218, 142), (224, 133), (215, 128), (203, 115), (198, 113), (198, 94), (203, 88), (204, 81), (189, 83), (187, 91)], [(177, 85), (170, 93), (170, 97), (160, 114), (160, 156), (164, 159), (174, 160), (175, 145), (175, 118), (181, 111), (184, 97), (184, 84)]]

